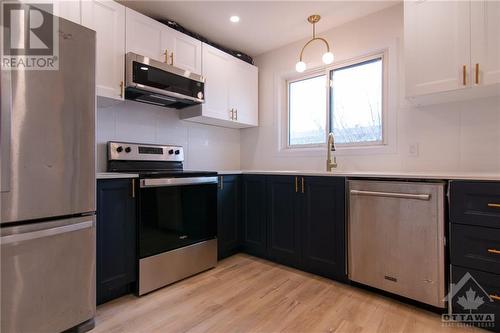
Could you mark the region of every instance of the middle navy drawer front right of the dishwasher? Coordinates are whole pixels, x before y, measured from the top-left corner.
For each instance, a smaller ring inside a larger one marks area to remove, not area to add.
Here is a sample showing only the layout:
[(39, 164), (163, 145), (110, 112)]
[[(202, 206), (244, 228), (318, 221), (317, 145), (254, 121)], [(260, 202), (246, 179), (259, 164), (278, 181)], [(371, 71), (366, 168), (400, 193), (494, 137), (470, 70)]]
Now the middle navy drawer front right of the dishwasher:
[(451, 225), (451, 263), (500, 274), (500, 229)]

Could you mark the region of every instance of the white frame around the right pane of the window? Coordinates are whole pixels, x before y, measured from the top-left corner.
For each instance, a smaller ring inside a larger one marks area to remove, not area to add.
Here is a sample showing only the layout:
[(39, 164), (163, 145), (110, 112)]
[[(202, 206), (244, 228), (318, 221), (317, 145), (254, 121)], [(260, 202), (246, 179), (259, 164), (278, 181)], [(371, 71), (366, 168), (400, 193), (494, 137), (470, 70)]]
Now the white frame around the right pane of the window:
[[(381, 59), (382, 60), (382, 140), (380, 141), (364, 141), (364, 142), (353, 142), (353, 143), (336, 143), (335, 145), (339, 148), (357, 148), (357, 147), (379, 147), (387, 145), (387, 127), (388, 127), (388, 116), (387, 116), (387, 87), (388, 87), (388, 75), (387, 75), (387, 50), (381, 52), (374, 52), (367, 54), (365, 56), (349, 59), (340, 63), (337, 63), (327, 69), (328, 80), (330, 81), (330, 75), (334, 70), (342, 69), (345, 67), (362, 64), (371, 60)], [(327, 109), (327, 125), (328, 131), (332, 131), (331, 127), (331, 115), (332, 115), (332, 105), (331, 105), (331, 94), (332, 89), (330, 88), (331, 82), (329, 82), (328, 88), (328, 109)], [(334, 133), (335, 134), (335, 133)], [(328, 135), (328, 133), (327, 133)]]

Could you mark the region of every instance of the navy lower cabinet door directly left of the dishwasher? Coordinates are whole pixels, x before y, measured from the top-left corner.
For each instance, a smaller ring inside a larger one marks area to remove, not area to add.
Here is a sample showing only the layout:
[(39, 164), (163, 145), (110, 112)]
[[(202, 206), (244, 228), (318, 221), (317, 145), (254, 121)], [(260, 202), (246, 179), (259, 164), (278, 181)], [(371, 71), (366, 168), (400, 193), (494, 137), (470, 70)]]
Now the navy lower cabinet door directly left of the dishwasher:
[(345, 280), (345, 178), (304, 177), (304, 189), (302, 265)]

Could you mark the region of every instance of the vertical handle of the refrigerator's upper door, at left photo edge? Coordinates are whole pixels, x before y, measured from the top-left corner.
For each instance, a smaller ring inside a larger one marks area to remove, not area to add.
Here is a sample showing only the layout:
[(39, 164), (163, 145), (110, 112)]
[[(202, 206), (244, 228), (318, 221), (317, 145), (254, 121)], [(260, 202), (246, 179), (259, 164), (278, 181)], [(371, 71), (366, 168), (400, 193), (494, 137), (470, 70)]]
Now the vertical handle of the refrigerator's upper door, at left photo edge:
[(10, 191), (10, 157), (12, 129), (12, 80), (10, 69), (0, 73), (1, 117), (0, 117), (0, 192)]

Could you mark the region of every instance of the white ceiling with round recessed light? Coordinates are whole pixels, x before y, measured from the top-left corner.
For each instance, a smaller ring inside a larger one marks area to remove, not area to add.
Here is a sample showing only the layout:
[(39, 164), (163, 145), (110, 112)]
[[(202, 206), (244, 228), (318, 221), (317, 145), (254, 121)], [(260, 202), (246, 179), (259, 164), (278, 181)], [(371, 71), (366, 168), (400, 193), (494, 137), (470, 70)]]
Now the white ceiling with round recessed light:
[[(170, 19), (222, 46), (257, 56), (311, 35), (310, 14), (320, 14), (318, 33), (395, 5), (390, 1), (168, 1), (119, 0), (156, 19)], [(231, 15), (240, 16), (231, 23)]]

